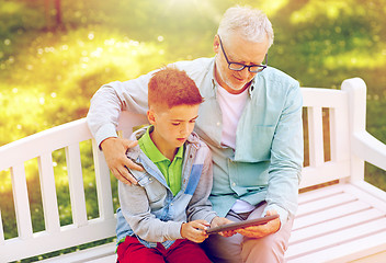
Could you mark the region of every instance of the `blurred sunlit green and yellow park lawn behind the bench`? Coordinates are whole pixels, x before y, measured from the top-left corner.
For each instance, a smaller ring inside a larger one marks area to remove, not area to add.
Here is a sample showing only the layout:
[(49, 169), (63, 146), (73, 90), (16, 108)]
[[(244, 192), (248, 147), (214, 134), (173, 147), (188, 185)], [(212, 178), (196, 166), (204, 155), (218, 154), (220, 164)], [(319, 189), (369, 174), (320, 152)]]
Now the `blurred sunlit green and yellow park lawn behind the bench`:
[[(269, 15), (275, 32), (269, 65), (302, 87), (339, 89), (347, 78), (364, 79), (367, 130), (386, 142), (385, 0), (0, 0), (0, 146), (84, 117), (103, 83), (214, 56), (218, 22), (234, 4)], [(94, 218), (91, 145), (81, 144), (81, 150), (87, 209)], [(71, 211), (65, 151), (53, 158), (60, 222), (67, 225)], [(25, 169), (33, 228), (42, 231), (37, 164), (26, 163)], [(365, 180), (386, 191), (386, 173), (375, 167), (366, 164)], [(116, 188), (114, 179), (112, 183)], [(5, 238), (18, 231), (11, 199), (10, 172), (1, 171)]]

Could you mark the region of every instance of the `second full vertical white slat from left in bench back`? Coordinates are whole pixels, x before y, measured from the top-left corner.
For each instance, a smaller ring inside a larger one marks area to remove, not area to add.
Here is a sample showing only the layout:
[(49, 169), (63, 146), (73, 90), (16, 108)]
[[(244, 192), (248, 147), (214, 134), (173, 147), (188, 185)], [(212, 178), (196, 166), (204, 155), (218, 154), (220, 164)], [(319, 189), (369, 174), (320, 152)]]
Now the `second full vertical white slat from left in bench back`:
[(60, 230), (60, 219), (58, 202), (56, 196), (55, 176), (53, 168), (53, 157), (50, 153), (44, 153), (37, 158), (42, 202), (44, 209), (44, 220), (48, 232)]

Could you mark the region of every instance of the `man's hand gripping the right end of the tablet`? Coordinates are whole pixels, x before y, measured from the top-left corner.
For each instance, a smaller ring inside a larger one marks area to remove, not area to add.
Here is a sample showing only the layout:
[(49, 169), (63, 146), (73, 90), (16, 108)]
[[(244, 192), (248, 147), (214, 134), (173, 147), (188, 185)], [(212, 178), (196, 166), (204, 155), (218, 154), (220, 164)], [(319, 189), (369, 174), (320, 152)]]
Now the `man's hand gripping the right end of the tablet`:
[[(275, 210), (266, 211), (266, 216), (272, 216), (276, 214), (277, 213)], [(236, 232), (241, 233), (242, 236), (246, 236), (248, 238), (263, 238), (265, 236), (276, 232), (280, 229), (280, 218), (276, 218), (264, 225), (238, 229), (236, 230)]]

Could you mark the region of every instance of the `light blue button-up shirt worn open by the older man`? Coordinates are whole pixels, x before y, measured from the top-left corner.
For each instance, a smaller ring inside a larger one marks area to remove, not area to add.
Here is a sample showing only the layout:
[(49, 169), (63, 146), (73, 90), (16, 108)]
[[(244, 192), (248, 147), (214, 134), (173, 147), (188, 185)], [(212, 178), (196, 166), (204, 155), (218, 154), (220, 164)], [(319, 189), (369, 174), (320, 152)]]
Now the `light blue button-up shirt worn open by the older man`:
[[(282, 226), (297, 208), (303, 165), (303, 99), (299, 83), (268, 67), (256, 75), (240, 117), (236, 149), (223, 147), (223, 117), (217, 102), (215, 59), (179, 61), (195, 81), (205, 101), (200, 106), (195, 132), (209, 146), (214, 182), (209, 199), (218, 216), (225, 216), (236, 199), (252, 205), (266, 202), (263, 211), (275, 209)], [(125, 82), (103, 85), (91, 100), (89, 127), (98, 144), (116, 136), (121, 111), (146, 115), (147, 85), (152, 72)]]

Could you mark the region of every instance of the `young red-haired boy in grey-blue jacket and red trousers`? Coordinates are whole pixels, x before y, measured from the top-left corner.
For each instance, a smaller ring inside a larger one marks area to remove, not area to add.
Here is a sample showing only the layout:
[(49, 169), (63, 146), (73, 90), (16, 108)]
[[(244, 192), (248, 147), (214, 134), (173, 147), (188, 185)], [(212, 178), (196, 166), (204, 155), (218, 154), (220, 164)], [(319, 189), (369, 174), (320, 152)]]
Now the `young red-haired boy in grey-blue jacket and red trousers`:
[(118, 262), (211, 262), (197, 243), (217, 217), (207, 199), (212, 156), (192, 133), (203, 98), (173, 68), (154, 73), (148, 88), (151, 125), (132, 135), (138, 145), (127, 152), (144, 172), (130, 170), (137, 185), (118, 182)]

